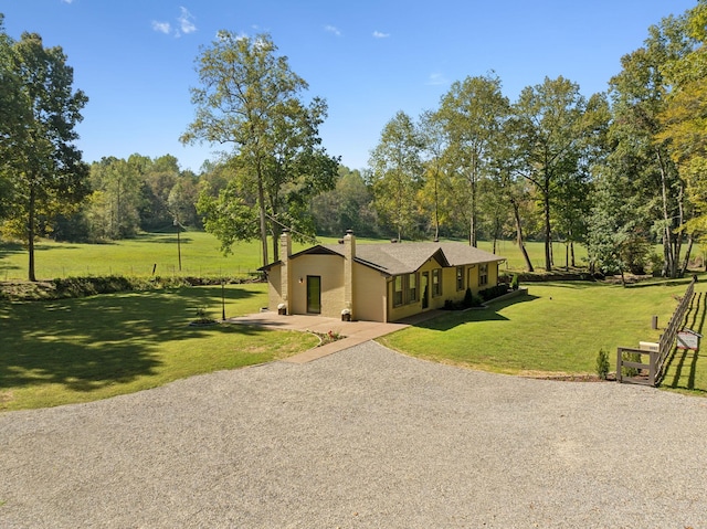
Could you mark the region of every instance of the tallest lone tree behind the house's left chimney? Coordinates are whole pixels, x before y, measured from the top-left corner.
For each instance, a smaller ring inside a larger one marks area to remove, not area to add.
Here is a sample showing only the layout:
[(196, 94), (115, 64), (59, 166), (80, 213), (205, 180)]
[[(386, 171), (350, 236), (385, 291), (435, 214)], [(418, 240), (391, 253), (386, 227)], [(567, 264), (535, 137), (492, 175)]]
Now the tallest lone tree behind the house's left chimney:
[[(319, 147), (318, 126), (326, 104), (315, 98), (305, 105), (302, 93), (307, 83), (276, 52), (267, 34), (243, 38), (220, 31), (198, 57), (201, 87), (191, 89), (196, 118), (181, 136), (183, 142), (205, 140), (232, 147), (231, 155), (239, 158), (255, 190), (263, 264), (268, 262), (268, 234), (279, 232), (273, 207), (281, 203), (284, 178), (298, 177), (299, 186), (316, 191), (334, 186), (336, 176), (336, 160)], [(325, 184), (313, 183), (321, 170), (329, 171)], [(276, 252), (276, 240), (273, 246)]]

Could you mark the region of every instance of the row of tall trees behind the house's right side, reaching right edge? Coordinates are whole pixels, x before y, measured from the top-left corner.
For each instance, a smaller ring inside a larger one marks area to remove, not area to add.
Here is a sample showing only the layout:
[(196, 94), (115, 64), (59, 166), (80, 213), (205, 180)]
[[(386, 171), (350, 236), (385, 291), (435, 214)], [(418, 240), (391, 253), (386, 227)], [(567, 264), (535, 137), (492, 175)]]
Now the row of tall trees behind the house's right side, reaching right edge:
[(706, 21), (705, 1), (663, 19), (589, 98), (560, 76), (510, 102), (490, 73), (453, 83), (418, 119), (399, 112), (371, 152), (379, 215), (398, 239), (513, 233), (528, 269), (530, 234), (548, 271), (561, 241), (567, 265), (582, 243), (594, 271), (684, 274), (707, 213)]

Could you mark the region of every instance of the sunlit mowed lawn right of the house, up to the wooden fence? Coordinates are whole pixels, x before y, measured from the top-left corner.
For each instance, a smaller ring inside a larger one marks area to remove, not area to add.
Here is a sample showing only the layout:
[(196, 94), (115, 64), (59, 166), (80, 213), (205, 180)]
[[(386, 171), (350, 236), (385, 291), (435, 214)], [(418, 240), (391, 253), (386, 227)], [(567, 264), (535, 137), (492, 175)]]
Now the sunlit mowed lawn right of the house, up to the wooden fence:
[[(482, 310), (444, 314), (381, 338), (411, 356), (521, 375), (594, 374), (600, 349), (615, 370), (619, 346), (657, 341), (686, 282), (623, 288), (594, 283), (527, 283), (527, 295)], [(698, 284), (698, 292), (704, 292)], [(699, 331), (699, 326), (697, 329)], [(695, 364), (707, 371), (707, 361)], [(700, 375), (701, 377), (701, 375)], [(701, 377), (701, 389), (707, 380)]]

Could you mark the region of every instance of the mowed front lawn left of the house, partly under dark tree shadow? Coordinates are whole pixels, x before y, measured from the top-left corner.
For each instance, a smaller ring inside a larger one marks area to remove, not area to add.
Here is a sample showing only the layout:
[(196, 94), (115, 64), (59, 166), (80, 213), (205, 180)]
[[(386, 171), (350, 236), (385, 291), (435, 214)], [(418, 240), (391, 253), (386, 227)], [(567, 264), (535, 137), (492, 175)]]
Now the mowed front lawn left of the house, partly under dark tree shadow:
[[(224, 293), (226, 317), (267, 304), (264, 284), (229, 285)], [(235, 324), (190, 327), (198, 308), (220, 319), (221, 287), (0, 304), (0, 411), (133, 393), (318, 342)]]

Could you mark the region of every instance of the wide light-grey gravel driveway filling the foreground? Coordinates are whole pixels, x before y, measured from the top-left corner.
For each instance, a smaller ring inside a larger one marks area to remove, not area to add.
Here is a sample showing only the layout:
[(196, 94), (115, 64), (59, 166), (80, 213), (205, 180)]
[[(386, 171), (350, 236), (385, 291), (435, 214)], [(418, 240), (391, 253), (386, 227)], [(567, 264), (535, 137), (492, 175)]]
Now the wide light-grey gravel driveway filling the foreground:
[(0, 415), (2, 528), (707, 527), (707, 399), (378, 343)]

